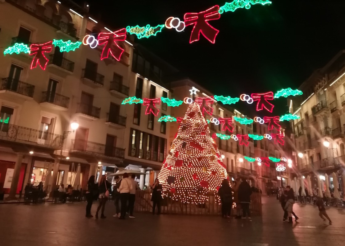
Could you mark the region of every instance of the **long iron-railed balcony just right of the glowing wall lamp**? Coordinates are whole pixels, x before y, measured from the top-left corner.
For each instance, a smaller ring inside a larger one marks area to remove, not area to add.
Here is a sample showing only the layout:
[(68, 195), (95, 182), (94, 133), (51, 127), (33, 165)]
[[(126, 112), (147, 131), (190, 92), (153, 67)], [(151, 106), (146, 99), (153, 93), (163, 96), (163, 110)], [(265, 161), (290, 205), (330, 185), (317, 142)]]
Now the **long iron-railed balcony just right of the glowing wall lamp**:
[(110, 158), (125, 158), (125, 149), (82, 139), (72, 139), (71, 151)]

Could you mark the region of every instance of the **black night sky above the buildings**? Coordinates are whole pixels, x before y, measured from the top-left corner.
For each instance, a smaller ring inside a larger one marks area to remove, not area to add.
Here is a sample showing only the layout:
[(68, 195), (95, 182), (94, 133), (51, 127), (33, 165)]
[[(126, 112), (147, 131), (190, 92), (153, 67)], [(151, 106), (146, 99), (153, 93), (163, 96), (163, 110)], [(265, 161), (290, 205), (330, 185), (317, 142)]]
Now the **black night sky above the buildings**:
[[(276, 92), (298, 87), (345, 47), (344, 0), (271, 0), (273, 4), (223, 13), (209, 23), (220, 32), (215, 44), (204, 37), (189, 44), (192, 27), (183, 33), (163, 29), (137, 40), (195, 82), (218, 95)], [(76, 1), (78, 2), (78, 1)], [(164, 24), (183, 19), (224, 0), (90, 0), (90, 13), (109, 28)], [(140, 2), (140, 4), (134, 4)], [(279, 104), (279, 103), (278, 103)], [(281, 99), (280, 112), (287, 110)], [(237, 106), (237, 105), (236, 105)]]

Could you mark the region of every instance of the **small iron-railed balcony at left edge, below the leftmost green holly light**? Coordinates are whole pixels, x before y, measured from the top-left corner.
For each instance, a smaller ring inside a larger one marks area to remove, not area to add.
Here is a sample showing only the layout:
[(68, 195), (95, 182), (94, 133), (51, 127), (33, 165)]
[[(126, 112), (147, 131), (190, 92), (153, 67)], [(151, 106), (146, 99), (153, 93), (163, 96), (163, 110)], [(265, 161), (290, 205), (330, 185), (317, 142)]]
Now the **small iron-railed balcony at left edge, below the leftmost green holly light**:
[(19, 96), (24, 99), (33, 97), (35, 86), (12, 78), (2, 78), (0, 82), (0, 93), (8, 94), (10, 97)]

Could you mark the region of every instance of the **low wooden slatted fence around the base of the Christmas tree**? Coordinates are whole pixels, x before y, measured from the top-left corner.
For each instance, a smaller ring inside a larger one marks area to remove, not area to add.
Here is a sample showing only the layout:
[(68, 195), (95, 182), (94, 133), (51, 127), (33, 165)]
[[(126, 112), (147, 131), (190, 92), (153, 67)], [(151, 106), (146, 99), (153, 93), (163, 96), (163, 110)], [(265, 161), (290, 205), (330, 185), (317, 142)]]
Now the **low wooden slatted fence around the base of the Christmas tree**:
[[(205, 204), (183, 204), (170, 198), (164, 198), (161, 201), (162, 214), (176, 215), (220, 215), (221, 205), (217, 201), (218, 196), (210, 193)], [(253, 193), (250, 211), (252, 216), (262, 215), (261, 194)], [(139, 190), (136, 193), (135, 207), (136, 212), (152, 212), (151, 191)], [(233, 213), (234, 213), (233, 209)]]

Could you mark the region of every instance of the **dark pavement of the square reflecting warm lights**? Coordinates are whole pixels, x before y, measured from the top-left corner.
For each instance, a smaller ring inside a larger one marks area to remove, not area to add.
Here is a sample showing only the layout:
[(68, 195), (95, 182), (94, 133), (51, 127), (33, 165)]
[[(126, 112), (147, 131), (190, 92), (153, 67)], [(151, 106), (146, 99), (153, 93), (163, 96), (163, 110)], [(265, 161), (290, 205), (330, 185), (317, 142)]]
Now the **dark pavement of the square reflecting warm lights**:
[[(282, 222), (275, 198), (263, 197), (263, 216), (253, 222), (213, 216), (136, 214), (135, 219), (113, 218), (107, 203), (106, 219), (85, 218), (85, 202), (74, 204), (0, 205), (0, 245), (4, 246), (293, 246), (344, 245), (345, 210), (329, 208), (333, 225), (318, 217), (311, 205), (294, 205), (299, 223)], [(94, 214), (96, 205), (92, 207)]]

